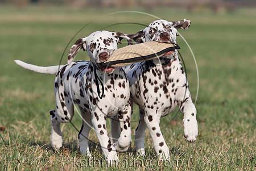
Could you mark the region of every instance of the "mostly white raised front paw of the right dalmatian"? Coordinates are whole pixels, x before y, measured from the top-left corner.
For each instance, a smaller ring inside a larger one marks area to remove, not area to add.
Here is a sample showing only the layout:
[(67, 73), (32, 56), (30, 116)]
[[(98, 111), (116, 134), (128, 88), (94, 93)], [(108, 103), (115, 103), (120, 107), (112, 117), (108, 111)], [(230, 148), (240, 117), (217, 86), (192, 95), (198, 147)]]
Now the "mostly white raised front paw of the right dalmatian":
[(184, 137), (189, 143), (196, 141), (198, 134), (197, 120), (196, 119), (183, 119)]

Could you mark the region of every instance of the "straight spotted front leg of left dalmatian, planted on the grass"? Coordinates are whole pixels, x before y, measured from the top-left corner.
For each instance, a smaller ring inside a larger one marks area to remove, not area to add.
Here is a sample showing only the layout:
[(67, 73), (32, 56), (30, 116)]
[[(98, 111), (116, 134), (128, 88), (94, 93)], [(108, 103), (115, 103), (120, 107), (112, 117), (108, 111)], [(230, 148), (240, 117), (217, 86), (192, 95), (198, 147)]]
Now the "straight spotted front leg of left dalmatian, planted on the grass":
[(98, 140), (100, 141), (101, 149), (108, 163), (118, 160), (115, 147), (112, 145), (106, 130), (106, 114), (107, 112), (96, 110), (92, 112), (92, 124), (96, 131)]

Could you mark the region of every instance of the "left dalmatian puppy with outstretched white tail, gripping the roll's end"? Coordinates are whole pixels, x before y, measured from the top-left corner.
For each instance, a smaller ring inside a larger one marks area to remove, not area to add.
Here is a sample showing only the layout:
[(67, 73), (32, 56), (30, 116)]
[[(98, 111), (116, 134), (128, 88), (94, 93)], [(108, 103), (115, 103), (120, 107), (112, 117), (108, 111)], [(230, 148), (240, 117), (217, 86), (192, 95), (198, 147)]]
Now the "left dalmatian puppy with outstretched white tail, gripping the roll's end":
[[(117, 160), (117, 151), (126, 151), (130, 145), (130, 90), (126, 74), (121, 68), (104, 67), (101, 62), (117, 49), (122, 38), (131, 39), (119, 32), (96, 31), (81, 38), (72, 46), (68, 55), (68, 64), (64, 66), (35, 66), (22, 61), (15, 61), (23, 68), (40, 73), (56, 74), (54, 88), (56, 108), (51, 114), (51, 145), (59, 149), (63, 144), (60, 123), (68, 123), (74, 115), (74, 105), (78, 105), (83, 122), (79, 132), (79, 145), (82, 154), (91, 156), (88, 148), (88, 134), (92, 128), (96, 131), (102, 151), (109, 162)], [(73, 62), (80, 49), (88, 52), (90, 61)], [(96, 70), (104, 81), (105, 94), (102, 99), (97, 94)], [(115, 115), (118, 115), (115, 117)], [(113, 117), (115, 135), (109, 138), (106, 130), (106, 118)], [(118, 132), (117, 130), (120, 130)], [(117, 133), (118, 132), (118, 133)], [(119, 137), (119, 138), (118, 138)]]

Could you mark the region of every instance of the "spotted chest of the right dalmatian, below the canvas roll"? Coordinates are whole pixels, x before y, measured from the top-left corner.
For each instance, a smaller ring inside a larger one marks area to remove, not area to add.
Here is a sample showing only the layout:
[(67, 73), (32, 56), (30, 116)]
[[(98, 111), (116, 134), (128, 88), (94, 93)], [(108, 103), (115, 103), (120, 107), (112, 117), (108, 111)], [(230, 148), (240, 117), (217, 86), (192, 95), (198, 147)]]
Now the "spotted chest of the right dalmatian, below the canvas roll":
[(156, 112), (160, 111), (162, 115), (166, 115), (174, 110), (182, 99), (185, 80), (178, 60), (166, 65), (143, 66), (142, 73), (131, 85), (131, 96), (139, 106)]

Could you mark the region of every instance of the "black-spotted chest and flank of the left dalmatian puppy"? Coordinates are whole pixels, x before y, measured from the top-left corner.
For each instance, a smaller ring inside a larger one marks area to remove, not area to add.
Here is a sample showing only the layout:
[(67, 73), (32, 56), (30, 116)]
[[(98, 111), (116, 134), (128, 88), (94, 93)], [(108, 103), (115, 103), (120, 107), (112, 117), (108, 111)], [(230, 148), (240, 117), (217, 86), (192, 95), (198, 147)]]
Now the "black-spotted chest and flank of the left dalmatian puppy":
[[(99, 110), (108, 112), (108, 115), (117, 114), (117, 111), (123, 109), (130, 100), (129, 82), (125, 73), (117, 70), (112, 74), (98, 74), (98, 77), (104, 84), (102, 99), (98, 96), (96, 79), (90, 68), (85, 68), (82, 72), (79, 70), (72, 72), (72, 77), (65, 82), (65, 89), (72, 94), (73, 102), (86, 111), (97, 107)], [(98, 80), (98, 87), (101, 94), (100, 80)]]

